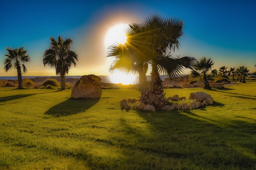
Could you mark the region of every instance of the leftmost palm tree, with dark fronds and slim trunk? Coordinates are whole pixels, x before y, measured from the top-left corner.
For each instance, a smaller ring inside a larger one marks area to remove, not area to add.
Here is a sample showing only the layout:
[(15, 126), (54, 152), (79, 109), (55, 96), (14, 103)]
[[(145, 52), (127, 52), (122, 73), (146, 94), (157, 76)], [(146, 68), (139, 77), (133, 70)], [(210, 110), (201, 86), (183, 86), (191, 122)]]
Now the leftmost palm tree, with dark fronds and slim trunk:
[(19, 89), (22, 89), (22, 73), (21, 73), (21, 65), (23, 68), (23, 73), (27, 72), (25, 67), (25, 63), (30, 62), (30, 58), (27, 55), (27, 51), (20, 47), (19, 49), (6, 48), (7, 58), (4, 60), (4, 70), (8, 72), (13, 67), (17, 69)]

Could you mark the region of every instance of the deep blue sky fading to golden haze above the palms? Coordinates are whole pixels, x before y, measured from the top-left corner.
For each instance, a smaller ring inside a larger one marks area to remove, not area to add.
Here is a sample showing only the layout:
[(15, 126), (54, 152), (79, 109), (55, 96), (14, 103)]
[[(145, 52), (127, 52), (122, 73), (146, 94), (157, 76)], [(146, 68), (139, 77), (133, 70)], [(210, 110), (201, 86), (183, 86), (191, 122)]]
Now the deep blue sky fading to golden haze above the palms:
[(245, 65), (256, 71), (255, 1), (13, 1), (0, 2), (0, 76), (5, 73), (6, 47), (23, 46), (31, 63), (26, 76), (55, 75), (42, 56), (50, 37), (72, 38), (79, 57), (69, 75), (110, 75), (113, 59), (106, 58), (105, 37), (111, 27), (141, 22), (151, 14), (184, 21), (176, 55), (211, 57), (213, 69)]

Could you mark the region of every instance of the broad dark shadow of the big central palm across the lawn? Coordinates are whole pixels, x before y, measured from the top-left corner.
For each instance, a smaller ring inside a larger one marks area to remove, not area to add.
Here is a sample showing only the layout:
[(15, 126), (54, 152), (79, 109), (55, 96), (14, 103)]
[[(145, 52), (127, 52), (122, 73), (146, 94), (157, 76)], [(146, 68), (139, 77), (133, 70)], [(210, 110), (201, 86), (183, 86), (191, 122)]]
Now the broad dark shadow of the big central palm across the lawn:
[(187, 162), (188, 166), (197, 167), (195, 169), (255, 168), (256, 142), (252, 137), (256, 133), (255, 124), (230, 120), (222, 122), (225, 124), (223, 128), (207, 116), (181, 113), (138, 112), (151, 125), (150, 131), (156, 139), (156, 144), (151, 144), (154, 141), (148, 142), (148, 139), (138, 139), (149, 147), (147, 154), (158, 150), (159, 156), (163, 154), (169, 158), (168, 153), (177, 152), (179, 160), (172, 161)]

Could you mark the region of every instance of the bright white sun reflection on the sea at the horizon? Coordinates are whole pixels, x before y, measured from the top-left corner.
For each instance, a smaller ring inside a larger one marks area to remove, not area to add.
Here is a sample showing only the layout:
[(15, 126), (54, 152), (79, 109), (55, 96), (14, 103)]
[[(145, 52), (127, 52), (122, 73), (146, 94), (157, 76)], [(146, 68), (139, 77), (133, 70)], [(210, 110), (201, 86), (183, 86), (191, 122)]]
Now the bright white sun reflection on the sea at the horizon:
[(112, 83), (122, 83), (123, 85), (135, 84), (137, 77), (131, 74), (114, 73), (110, 75)]

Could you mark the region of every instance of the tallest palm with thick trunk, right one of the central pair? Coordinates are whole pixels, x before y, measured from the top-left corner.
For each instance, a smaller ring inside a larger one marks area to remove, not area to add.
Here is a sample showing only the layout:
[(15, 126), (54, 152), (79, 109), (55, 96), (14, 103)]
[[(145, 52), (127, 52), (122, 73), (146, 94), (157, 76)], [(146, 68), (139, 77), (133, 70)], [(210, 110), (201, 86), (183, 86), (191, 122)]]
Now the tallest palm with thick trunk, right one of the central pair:
[(152, 15), (142, 23), (149, 51), (151, 71), (151, 103), (156, 108), (166, 104), (160, 74), (170, 78), (183, 73), (185, 68), (192, 69), (195, 62), (193, 57), (175, 58), (172, 52), (179, 49), (178, 39), (183, 35), (183, 22), (175, 18), (163, 19)]

